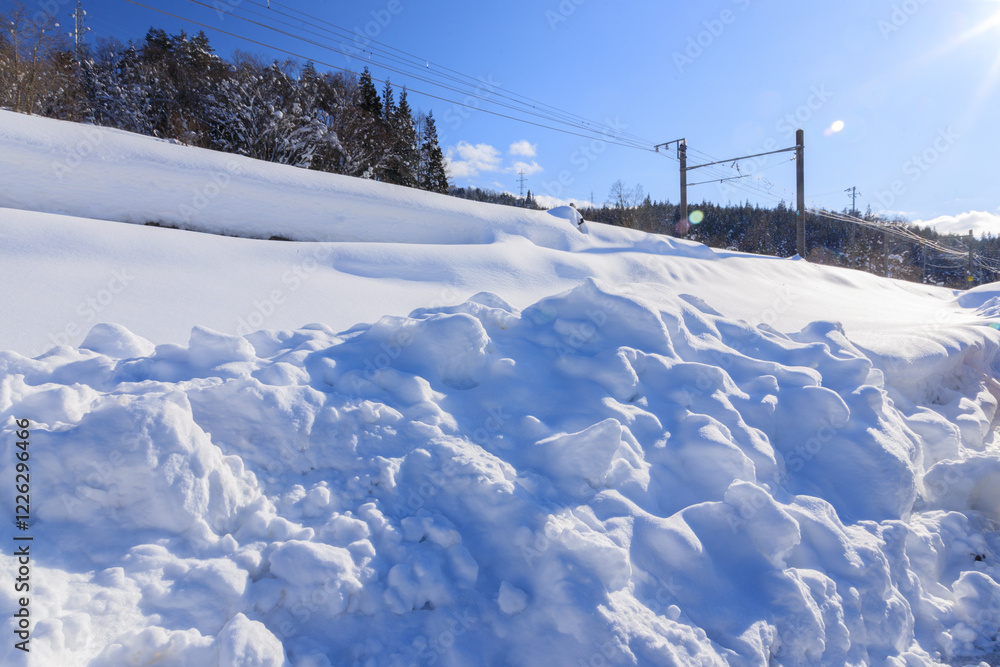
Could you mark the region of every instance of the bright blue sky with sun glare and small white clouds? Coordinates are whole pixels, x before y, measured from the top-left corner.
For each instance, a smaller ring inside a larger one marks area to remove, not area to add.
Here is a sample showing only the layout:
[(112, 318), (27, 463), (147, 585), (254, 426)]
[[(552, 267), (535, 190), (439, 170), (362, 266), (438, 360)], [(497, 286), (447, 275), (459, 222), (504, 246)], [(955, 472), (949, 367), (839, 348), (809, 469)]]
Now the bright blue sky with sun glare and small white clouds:
[[(850, 205), (844, 190), (857, 187), (861, 210), (871, 205), (959, 226), (970, 220), (959, 214), (986, 212), (992, 215), (975, 217), (977, 229), (1000, 231), (998, 0), (273, 3), (272, 12), (302, 12), (355, 33), (348, 55), (240, 20), (268, 23), (254, 15), (268, 15), (257, 0), (204, 0), (208, 7), (143, 2), (326, 63), (320, 69), (367, 64), (376, 78), (389, 76), (397, 87), (447, 98), (412, 94), (411, 104), (434, 111), (458, 185), (517, 192), (523, 170), (527, 189), (553, 199), (601, 203), (620, 179), (676, 202), (678, 163), (649, 150), (654, 144), (686, 138), (694, 165), (792, 146), (801, 127), (810, 205), (843, 209)], [(75, 0), (26, 4), (59, 6), (68, 26)], [(0, 8), (9, 5), (0, 0)], [(152, 25), (201, 29), (125, 0), (85, 0), (84, 7), (89, 39), (139, 38)], [(310, 38), (332, 44), (327, 28), (313, 22), (308, 29), (323, 37)], [(283, 57), (205, 32), (223, 55), (241, 48)], [(461, 74), (468, 86), (449, 91), (389, 72), (382, 55), (362, 50), (369, 38), (425, 61), (415, 70), (425, 78)], [(546, 104), (609, 124), (614, 136), (627, 133), (625, 143), (646, 150), (616, 145), (601, 130), (575, 136), (462, 106), (552, 124), (495, 105), (515, 95), (533, 100), (536, 111)], [(744, 160), (739, 172), (728, 165), (692, 171), (691, 183), (756, 176), (696, 185), (689, 197), (791, 204), (790, 157)]]

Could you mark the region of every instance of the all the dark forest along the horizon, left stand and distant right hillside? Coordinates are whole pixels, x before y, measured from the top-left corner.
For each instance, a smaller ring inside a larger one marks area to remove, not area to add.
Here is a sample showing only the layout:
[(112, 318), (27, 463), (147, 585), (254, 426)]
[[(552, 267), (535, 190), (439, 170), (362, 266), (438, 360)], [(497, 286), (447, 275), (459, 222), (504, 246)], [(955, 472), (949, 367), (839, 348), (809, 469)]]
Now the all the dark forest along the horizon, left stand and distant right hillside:
[[(42, 20), (39, 20), (39, 16)], [(93, 123), (191, 146), (315, 169), (477, 201), (540, 208), (529, 191), (460, 188), (449, 184), (433, 113), (414, 112), (406, 89), (386, 81), (381, 92), (368, 69), (319, 72), (311, 63), (267, 61), (237, 52), (217, 55), (204, 33), (168, 35), (152, 28), (137, 43), (104, 40), (74, 50), (49, 14), (16, 4), (0, 24), (0, 107)], [(740, 252), (791, 256), (795, 211), (784, 203), (692, 205), (703, 220), (680, 230), (678, 206), (653, 201), (641, 186), (621, 181), (588, 220), (656, 234), (684, 236)], [(878, 275), (968, 287), (998, 279), (1000, 238), (944, 236), (868, 211), (844, 211), (864, 227), (807, 216), (807, 259)], [(894, 235), (908, 226), (957, 253), (943, 255)], [(683, 232), (683, 233), (681, 233)], [(970, 280), (971, 278), (971, 280)]]

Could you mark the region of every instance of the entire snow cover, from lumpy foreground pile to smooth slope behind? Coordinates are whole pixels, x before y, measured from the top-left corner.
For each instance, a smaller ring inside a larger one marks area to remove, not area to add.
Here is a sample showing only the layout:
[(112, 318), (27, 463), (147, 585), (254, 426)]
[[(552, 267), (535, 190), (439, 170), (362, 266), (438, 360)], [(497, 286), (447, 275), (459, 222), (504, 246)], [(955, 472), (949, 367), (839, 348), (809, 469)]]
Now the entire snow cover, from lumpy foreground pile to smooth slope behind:
[(1000, 286), (9, 112), (0, 169), (4, 665), (998, 664)]

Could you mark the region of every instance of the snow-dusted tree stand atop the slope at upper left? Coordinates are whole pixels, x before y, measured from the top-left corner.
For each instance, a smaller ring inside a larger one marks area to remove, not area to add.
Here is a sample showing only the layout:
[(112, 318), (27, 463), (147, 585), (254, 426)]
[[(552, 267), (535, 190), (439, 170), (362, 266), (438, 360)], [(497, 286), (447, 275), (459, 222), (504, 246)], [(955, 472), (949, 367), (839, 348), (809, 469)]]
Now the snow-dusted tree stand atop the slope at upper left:
[(433, 112), (311, 63), (218, 56), (204, 33), (152, 28), (74, 51), (51, 16), (0, 16), (0, 107), (191, 146), (447, 193)]

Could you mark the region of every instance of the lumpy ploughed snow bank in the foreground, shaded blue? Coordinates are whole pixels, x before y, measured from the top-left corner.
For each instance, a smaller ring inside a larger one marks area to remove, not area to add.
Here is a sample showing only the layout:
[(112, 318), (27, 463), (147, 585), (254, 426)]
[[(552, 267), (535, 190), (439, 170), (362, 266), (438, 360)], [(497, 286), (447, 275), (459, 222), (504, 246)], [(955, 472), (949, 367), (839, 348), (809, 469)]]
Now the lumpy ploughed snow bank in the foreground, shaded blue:
[(935, 395), (837, 324), (785, 335), (593, 280), (339, 334), (196, 328), (154, 347), (101, 325), (79, 348), (2, 353), (4, 479), (14, 420), (32, 423), (33, 657), (984, 656), (1000, 334), (953, 333), (921, 378)]

